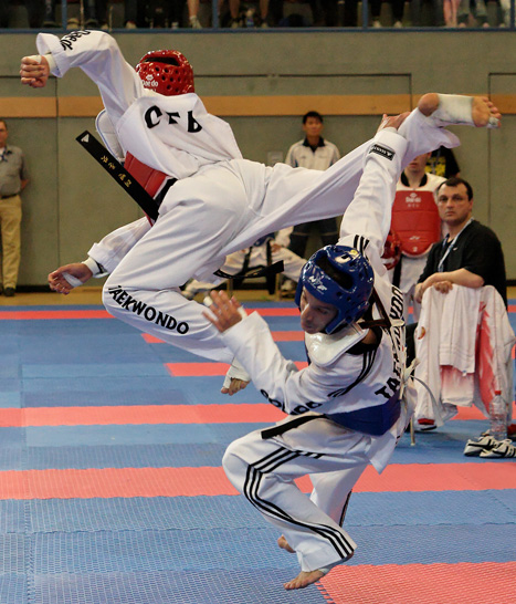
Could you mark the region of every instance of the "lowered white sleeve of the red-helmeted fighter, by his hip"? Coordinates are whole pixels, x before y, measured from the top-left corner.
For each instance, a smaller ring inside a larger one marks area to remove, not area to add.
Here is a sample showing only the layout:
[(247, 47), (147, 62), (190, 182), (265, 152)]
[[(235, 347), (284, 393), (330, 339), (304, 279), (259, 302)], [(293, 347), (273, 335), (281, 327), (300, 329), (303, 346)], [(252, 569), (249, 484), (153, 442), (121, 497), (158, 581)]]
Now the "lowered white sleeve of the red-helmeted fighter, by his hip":
[(149, 230), (150, 222), (145, 217), (140, 218), (106, 235), (101, 242), (92, 246), (87, 254), (112, 273), (127, 252)]

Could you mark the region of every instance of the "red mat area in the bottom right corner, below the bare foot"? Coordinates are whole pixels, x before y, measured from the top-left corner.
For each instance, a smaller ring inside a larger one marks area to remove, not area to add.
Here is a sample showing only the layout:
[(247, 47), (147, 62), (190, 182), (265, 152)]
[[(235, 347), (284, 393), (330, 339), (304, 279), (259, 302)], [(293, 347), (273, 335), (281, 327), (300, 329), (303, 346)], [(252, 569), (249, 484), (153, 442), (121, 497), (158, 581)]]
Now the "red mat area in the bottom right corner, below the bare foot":
[(516, 562), (343, 565), (317, 583), (328, 604), (506, 604), (515, 585)]

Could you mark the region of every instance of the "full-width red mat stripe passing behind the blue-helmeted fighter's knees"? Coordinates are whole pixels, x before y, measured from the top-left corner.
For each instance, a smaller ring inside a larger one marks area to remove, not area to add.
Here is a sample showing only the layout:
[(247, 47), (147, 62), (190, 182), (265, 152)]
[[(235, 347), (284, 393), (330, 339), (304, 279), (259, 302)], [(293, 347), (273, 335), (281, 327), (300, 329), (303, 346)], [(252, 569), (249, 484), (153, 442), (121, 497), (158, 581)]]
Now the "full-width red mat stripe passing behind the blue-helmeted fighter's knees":
[[(310, 490), (307, 477), (298, 481)], [(512, 460), (485, 464), (391, 465), (380, 477), (368, 467), (355, 492), (516, 489)], [(222, 468), (103, 468), (0, 472), (0, 499), (196, 497), (236, 494)]]

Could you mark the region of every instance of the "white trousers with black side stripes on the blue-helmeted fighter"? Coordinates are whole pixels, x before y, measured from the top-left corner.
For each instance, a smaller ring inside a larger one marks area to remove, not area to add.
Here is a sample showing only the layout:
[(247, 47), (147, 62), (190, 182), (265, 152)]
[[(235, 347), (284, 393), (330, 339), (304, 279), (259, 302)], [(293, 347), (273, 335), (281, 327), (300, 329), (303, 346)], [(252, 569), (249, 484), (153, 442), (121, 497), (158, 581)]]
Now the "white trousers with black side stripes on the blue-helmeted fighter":
[[(356, 549), (340, 524), (373, 438), (318, 417), (273, 438), (255, 430), (228, 447), (222, 465), (235, 489), (285, 535), (302, 571), (315, 571)], [(294, 482), (306, 475), (309, 498)]]

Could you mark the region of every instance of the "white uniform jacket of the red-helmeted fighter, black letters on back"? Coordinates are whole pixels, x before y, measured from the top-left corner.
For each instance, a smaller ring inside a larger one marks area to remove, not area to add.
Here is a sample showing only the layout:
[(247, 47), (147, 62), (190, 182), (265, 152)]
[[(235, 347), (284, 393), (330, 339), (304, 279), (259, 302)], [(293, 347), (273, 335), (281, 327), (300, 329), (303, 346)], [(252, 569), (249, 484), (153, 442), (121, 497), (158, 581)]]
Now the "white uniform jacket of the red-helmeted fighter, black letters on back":
[(41, 54), (52, 53), (54, 75), (81, 67), (95, 82), (124, 155), (130, 152), (178, 179), (242, 157), (230, 125), (209, 114), (197, 94), (164, 96), (146, 88), (107, 33), (76, 31), (62, 39), (40, 33), (36, 44)]

